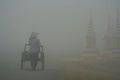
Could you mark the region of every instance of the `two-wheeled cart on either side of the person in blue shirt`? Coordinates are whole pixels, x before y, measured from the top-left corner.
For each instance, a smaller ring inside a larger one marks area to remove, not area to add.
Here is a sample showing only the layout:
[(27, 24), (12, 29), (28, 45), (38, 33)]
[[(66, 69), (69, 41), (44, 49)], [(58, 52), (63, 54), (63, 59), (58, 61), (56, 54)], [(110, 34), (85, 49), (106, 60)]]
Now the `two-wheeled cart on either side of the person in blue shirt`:
[[(24, 51), (21, 53), (21, 69), (24, 68), (24, 63), (26, 61), (31, 61), (30, 45), (25, 44)], [(38, 58), (36, 61), (41, 62), (42, 70), (44, 70), (44, 51), (43, 45), (40, 47), (40, 52), (38, 53)]]

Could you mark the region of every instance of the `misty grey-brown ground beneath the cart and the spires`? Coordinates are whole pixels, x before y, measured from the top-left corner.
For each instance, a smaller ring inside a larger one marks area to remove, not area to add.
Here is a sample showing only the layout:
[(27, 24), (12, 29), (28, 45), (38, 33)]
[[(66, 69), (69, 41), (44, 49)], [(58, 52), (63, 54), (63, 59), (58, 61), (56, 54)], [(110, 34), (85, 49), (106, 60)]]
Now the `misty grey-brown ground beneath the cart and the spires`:
[[(59, 64), (60, 63), (60, 64)], [(88, 58), (67, 59), (56, 65), (47, 64), (44, 71), (40, 64), (31, 71), (29, 63), (23, 70), (19, 65), (2, 63), (0, 80), (120, 80), (120, 59)], [(56, 66), (56, 67), (55, 67)]]

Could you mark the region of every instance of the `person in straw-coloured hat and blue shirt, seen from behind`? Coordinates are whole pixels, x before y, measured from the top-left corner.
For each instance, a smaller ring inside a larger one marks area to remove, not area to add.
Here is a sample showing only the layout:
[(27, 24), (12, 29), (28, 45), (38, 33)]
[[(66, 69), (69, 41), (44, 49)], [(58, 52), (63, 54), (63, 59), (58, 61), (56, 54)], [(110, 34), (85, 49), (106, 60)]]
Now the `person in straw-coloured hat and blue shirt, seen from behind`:
[(32, 70), (36, 70), (38, 54), (40, 52), (40, 40), (37, 38), (39, 33), (32, 32), (29, 38), (30, 45), (30, 54), (31, 54), (31, 68)]

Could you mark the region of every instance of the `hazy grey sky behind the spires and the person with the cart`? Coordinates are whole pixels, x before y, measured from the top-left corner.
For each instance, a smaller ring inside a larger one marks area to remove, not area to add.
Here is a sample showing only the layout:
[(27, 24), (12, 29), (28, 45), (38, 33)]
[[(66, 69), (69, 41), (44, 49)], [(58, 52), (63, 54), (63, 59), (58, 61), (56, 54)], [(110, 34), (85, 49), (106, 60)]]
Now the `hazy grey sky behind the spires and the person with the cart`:
[(0, 54), (20, 55), (33, 31), (40, 33), (47, 55), (79, 54), (85, 47), (90, 9), (101, 50), (108, 13), (115, 26), (119, 3), (120, 0), (0, 0)]

